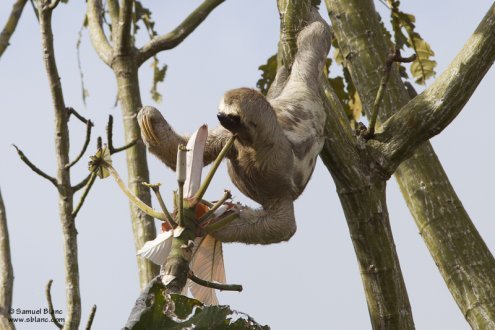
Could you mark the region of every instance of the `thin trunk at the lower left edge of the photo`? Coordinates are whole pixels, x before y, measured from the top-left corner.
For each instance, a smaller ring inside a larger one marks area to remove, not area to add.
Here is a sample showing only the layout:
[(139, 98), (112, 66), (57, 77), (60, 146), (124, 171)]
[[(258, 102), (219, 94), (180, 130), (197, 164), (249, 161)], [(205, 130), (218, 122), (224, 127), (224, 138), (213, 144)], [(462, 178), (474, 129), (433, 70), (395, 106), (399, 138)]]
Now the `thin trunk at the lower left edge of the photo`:
[(7, 213), (0, 192), (0, 328), (15, 329), (10, 322), (12, 308), (12, 292), (14, 290), (14, 270), (10, 258), (9, 230), (7, 228)]

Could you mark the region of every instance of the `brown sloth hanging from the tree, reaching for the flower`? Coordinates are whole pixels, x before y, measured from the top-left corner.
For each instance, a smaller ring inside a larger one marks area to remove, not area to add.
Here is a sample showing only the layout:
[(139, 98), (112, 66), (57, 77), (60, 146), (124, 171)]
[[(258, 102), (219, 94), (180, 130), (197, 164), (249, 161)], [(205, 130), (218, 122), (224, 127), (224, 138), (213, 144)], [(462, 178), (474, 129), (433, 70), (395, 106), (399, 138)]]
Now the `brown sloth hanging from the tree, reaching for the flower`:
[[(325, 112), (319, 86), (331, 43), (329, 26), (316, 10), (297, 37), (291, 73), (282, 66), (265, 97), (250, 88), (225, 93), (217, 114), (220, 126), (211, 130), (204, 163), (211, 163), (228, 139), (236, 139), (227, 154), (234, 185), (262, 208), (239, 206), (239, 216), (210, 233), (222, 242), (271, 244), (289, 240), (296, 231), (294, 200), (309, 181), (324, 143)], [(177, 146), (187, 137), (177, 134), (150, 106), (138, 114), (148, 150), (175, 170)]]

